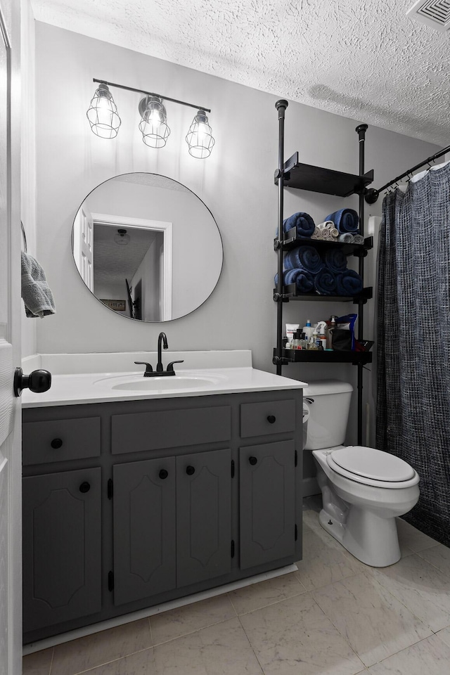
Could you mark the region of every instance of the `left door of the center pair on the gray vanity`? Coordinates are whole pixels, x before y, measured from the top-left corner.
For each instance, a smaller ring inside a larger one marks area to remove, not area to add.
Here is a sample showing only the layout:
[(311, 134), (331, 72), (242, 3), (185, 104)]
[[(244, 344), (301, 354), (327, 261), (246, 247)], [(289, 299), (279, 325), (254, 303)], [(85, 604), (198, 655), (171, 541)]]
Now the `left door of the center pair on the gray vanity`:
[(176, 586), (175, 458), (113, 468), (114, 603)]

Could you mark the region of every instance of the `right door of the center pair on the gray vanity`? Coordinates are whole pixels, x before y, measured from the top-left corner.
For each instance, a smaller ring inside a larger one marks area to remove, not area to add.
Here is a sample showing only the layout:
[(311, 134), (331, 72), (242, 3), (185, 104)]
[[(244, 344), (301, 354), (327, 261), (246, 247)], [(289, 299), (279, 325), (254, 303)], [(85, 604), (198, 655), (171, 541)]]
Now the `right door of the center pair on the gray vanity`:
[(176, 458), (176, 586), (231, 572), (231, 450)]

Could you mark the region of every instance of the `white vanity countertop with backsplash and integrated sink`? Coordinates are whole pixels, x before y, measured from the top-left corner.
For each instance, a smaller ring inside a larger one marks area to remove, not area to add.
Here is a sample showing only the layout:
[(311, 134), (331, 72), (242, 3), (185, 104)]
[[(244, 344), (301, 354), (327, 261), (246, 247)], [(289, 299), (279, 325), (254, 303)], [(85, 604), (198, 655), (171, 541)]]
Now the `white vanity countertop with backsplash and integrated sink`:
[[(84, 356), (86, 359), (83, 359)], [(30, 390), (25, 390), (22, 394), (22, 404), (24, 408), (41, 408), (107, 401), (293, 390), (307, 386), (307, 383), (300, 380), (252, 368), (250, 352), (169, 352), (164, 354), (163, 363), (167, 367), (169, 361), (182, 358), (184, 364), (174, 366), (177, 375), (143, 378), (145, 366), (135, 366), (134, 361), (148, 361), (155, 368), (157, 359), (154, 353), (39, 354), (24, 359), (24, 371), (28, 373), (33, 368), (48, 369), (52, 373), (51, 388), (44, 394), (34, 394)], [(207, 368), (196, 367), (205, 361)], [(87, 372), (80, 372), (83, 370), (83, 362)], [(130, 367), (129, 370), (120, 371), (111, 368), (115, 365), (123, 368), (125, 363), (129, 363), (132, 369)], [(108, 371), (98, 367), (106, 364), (110, 366)], [(214, 367), (223, 364), (229, 367)], [(97, 371), (93, 372), (95, 365)], [(190, 365), (195, 367), (189, 368)], [(136, 387), (148, 387), (148, 390), (133, 390), (134, 383)], [(130, 389), (124, 390), (120, 388), (122, 386)], [(160, 386), (164, 388), (160, 389)]]

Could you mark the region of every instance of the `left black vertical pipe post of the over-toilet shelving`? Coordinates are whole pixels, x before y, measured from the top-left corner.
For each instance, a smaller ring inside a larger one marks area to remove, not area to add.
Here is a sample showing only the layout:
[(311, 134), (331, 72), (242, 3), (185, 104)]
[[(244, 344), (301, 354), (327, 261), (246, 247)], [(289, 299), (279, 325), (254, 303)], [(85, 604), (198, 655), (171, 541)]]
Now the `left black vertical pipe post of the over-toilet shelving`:
[[(288, 101), (283, 98), (275, 103), (278, 110), (278, 240), (283, 241), (283, 199), (284, 199), (284, 114), (288, 108)], [(281, 375), (283, 354), (283, 246), (278, 248), (278, 283), (276, 293), (276, 374)]]

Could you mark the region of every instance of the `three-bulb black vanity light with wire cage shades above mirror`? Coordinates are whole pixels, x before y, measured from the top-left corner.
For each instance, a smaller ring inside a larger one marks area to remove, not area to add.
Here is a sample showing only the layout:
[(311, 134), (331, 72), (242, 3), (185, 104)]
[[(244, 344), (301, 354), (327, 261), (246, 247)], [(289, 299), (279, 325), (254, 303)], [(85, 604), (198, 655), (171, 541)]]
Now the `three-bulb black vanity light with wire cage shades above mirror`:
[(150, 146), (150, 148), (163, 148), (167, 143), (170, 129), (167, 124), (167, 112), (163, 101), (171, 101), (172, 103), (188, 105), (189, 108), (198, 110), (186, 134), (186, 143), (188, 143), (189, 154), (192, 157), (205, 159), (210, 156), (216, 141), (214, 141), (212, 136), (212, 129), (206, 115), (206, 113), (211, 112), (209, 108), (205, 108), (203, 105), (186, 103), (186, 101), (178, 101), (176, 98), (160, 96), (160, 94), (154, 94), (151, 91), (134, 89), (132, 86), (105, 82), (103, 79), (94, 78), (94, 82), (98, 82), (99, 86), (96, 89), (86, 115), (89, 124), (91, 124), (92, 131), (97, 136), (101, 136), (103, 139), (114, 139), (117, 136), (117, 131), (120, 127), (120, 117), (109, 90), (110, 86), (117, 86), (118, 89), (127, 89), (127, 91), (136, 91), (138, 94), (144, 94), (144, 98), (141, 98), (139, 102), (139, 115), (141, 115), (139, 129), (142, 133), (142, 140), (147, 146)]

